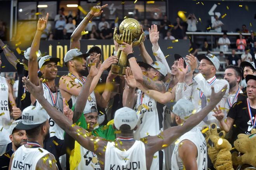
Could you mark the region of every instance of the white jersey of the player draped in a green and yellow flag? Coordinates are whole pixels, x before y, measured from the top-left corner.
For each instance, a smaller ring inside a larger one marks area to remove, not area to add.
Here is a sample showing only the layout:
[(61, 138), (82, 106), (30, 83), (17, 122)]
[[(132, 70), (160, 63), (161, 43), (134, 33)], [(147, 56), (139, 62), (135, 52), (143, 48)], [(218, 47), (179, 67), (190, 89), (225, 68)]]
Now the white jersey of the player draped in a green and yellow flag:
[(75, 170), (100, 170), (99, 160), (95, 153), (80, 145), (80, 154), (81, 160)]

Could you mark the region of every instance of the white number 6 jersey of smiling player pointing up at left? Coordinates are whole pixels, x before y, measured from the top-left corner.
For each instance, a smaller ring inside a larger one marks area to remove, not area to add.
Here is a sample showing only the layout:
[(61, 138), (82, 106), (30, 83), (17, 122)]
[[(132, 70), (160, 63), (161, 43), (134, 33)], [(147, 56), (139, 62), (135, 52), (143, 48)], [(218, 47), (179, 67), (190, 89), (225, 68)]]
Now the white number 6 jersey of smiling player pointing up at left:
[[(63, 112), (63, 100), (62, 100), (61, 92), (59, 91), (59, 89), (57, 89), (57, 94), (56, 92), (52, 93), (48, 88), (48, 86), (45, 83), (43, 83), (43, 96), (49, 103), (51, 103), (52, 106), (57, 108), (57, 110), (59, 110), (60, 112)], [(36, 100), (36, 106), (42, 107), (42, 105), (37, 100)], [(50, 124), (50, 137), (56, 136), (59, 139), (63, 140), (64, 131), (61, 129), (61, 127), (59, 127), (59, 125), (57, 125), (54, 122), (54, 120), (52, 120), (52, 118), (49, 115), (48, 115), (48, 119)]]

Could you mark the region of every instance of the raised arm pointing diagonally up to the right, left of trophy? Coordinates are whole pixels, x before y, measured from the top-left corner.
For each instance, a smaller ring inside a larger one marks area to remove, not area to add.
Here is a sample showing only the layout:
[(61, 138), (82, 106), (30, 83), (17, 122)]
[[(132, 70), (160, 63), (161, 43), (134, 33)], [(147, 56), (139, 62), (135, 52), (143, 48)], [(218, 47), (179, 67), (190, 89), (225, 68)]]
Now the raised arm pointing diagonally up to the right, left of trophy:
[(80, 49), (80, 38), (81, 38), (81, 32), (85, 31), (85, 28), (87, 26), (87, 24), (89, 23), (89, 21), (92, 20), (93, 17), (97, 17), (100, 16), (103, 12), (103, 8), (105, 8), (107, 6), (103, 5), (103, 6), (94, 6), (90, 12), (86, 15), (86, 17), (83, 19), (83, 21), (80, 22), (80, 24), (76, 27), (76, 29), (74, 30), (73, 34), (71, 35), (70, 38), (70, 49), (73, 48), (78, 48)]

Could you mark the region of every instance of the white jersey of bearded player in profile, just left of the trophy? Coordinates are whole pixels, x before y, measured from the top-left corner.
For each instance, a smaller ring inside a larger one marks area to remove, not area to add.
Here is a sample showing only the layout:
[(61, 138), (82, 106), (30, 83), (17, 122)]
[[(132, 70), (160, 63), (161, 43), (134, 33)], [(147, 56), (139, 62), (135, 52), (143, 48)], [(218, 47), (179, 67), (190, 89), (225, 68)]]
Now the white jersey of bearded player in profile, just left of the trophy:
[[(73, 78), (74, 78), (74, 82), (76, 82), (78, 84), (81, 84), (81, 86), (83, 86), (83, 84), (84, 84), (83, 81), (81, 81), (80, 79), (78, 79), (78, 78), (76, 78), (74, 76), (73, 76)], [(83, 79), (85, 80), (86, 77), (83, 76)], [(75, 105), (77, 98), (78, 98), (78, 96), (74, 96), (74, 95), (71, 96), (73, 105)], [(83, 113), (84, 114), (90, 113), (92, 106), (95, 106), (97, 108), (96, 97), (95, 97), (94, 92), (92, 92), (90, 94), (90, 96), (88, 97), (88, 99), (86, 101), (85, 109), (83, 110)]]

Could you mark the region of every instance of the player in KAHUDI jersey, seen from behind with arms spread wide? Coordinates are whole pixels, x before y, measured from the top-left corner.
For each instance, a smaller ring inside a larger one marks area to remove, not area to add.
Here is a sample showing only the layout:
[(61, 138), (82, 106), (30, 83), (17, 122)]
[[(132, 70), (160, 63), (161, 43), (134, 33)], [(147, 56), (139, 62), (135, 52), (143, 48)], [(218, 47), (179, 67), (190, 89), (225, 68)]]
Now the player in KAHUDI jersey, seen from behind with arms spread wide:
[(42, 79), (40, 80), (39, 86), (35, 86), (26, 77), (23, 77), (23, 81), (26, 89), (36, 97), (54, 121), (78, 141), (81, 146), (93, 151), (98, 156), (102, 170), (116, 170), (131, 167), (133, 169), (149, 170), (154, 153), (166, 148), (179, 136), (199, 124), (213, 110), (214, 106), (217, 105), (227, 89), (227, 86), (224, 86), (224, 89), (215, 93), (212, 87), (210, 101), (200, 112), (190, 116), (180, 126), (171, 127), (159, 133), (157, 136), (147, 136), (141, 139), (144, 143), (134, 140), (133, 131), (137, 129), (137, 113), (127, 107), (121, 108), (115, 113), (113, 125), (114, 128), (120, 130), (120, 133), (116, 134), (116, 142), (111, 143), (100, 137), (91, 136), (88, 131), (77, 125), (73, 125), (64, 115), (59, 114), (59, 111), (42, 96)]

